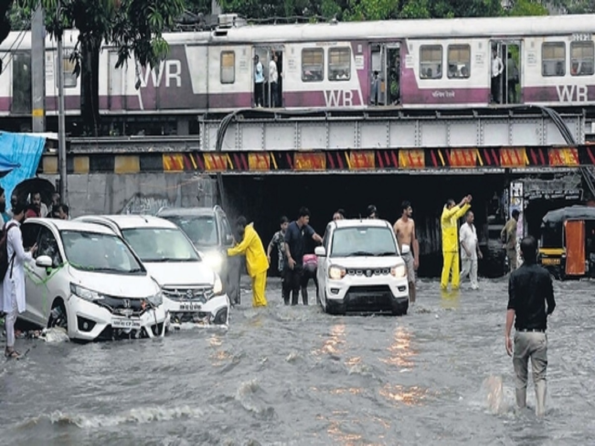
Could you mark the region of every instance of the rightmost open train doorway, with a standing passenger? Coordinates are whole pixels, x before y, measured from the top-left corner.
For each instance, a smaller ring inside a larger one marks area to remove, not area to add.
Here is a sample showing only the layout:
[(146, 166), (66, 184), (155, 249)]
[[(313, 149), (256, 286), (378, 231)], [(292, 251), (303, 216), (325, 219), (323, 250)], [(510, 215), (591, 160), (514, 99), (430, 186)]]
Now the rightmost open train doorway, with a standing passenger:
[[(494, 78), (494, 51), (502, 61), (502, 73)], [(522, 103), (521, 40), (492, 40), (490, 49), (490, 98), (492, 103)]]

